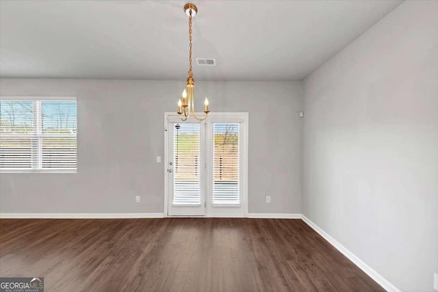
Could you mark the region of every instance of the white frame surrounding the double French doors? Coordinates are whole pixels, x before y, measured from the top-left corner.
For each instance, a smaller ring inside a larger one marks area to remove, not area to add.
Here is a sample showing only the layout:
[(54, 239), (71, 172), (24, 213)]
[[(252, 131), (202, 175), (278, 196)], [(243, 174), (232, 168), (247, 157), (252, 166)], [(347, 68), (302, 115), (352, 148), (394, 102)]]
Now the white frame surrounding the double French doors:
[[(196, 115), (202, 116), (203, 113), (196, 113)], [(164, 112), (164, 217), (248, 217), (248, 136), (249, 136), (249, 114), (248, 112), (213, 112), (209, 113), (209, 117), (214, 118), (229, 118), (229, 119), (237, 119), (240, 118), (243, 120), (242, 122), (242, 129), (244, 130), (244, 147), (242, 147), (242, 184), (241, 184), (241, 191), (242, 191), (242, 206), (244, 209), (244, 215), (226, 215), (226, 214), (220, 214), (220, 215), (211, 215), (211, 214), (205, 214), (204, 216), (169, 216), (168, 215), (168, 118), (169, 117), (178, 117), (179, 115), (166, 111)], [(207, 118), (208, 120), (208, 118)], [(204, 124), (201, 122), (201, 124)], [(207, 173), (206, 173), (207, 174)], [(207, 180), (208, 181), (208, 180)], [(209, 202), (209, 200), (207, 200)], [(207, 211), (207, 209), (206, 209)]]

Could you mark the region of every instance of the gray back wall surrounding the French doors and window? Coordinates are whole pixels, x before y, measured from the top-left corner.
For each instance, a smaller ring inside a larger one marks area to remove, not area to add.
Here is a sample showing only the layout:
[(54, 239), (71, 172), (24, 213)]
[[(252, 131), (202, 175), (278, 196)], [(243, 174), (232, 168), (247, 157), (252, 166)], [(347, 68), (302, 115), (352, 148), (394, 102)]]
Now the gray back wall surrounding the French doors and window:
[[(0, 174), (0, 212), (162, 213), (155, 157), (164, 157), (164, 111), (177, 109), (183, 80), (1, 79), (3, 96), (77, 96), (78, 169)], [(197, 81), (195, 95), (198, 106), (209, 96), (211, 111), (249, 112), (249, 212), (301, 213), (301, 83)]]

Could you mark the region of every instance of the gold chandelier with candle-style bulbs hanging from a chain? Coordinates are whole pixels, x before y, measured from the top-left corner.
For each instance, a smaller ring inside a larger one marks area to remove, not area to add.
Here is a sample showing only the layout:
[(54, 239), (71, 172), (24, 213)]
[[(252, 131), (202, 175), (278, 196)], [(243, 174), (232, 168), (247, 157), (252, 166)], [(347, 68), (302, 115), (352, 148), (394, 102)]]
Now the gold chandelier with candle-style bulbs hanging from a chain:
[(204, 101), (204, 116), (203, 118), (198, 118), (196, 116), (196, 111), (194, 109), (194, 78), (193, 78), (193, 72), (192, 72), (192, 16), (195, 16), (198, 12), (198, 8), (196, 5), (192, 3), (187, 3), (184, 5), (184, 11), (185, 14), (189, 16), (189, 77), (187, 79), (187, 91), (183, 91), (183, 101), (181, 101), (181, 98), (178, 100), (178, 113), (179, 118), (181, 120), (187, 120), (190, 118), (190, 111), (192, 112), (192, 115), (196, 120), (205, 120), (207, 118), (207, 115), (209, 113), (208, 110), (208, 99), (205, 97)]

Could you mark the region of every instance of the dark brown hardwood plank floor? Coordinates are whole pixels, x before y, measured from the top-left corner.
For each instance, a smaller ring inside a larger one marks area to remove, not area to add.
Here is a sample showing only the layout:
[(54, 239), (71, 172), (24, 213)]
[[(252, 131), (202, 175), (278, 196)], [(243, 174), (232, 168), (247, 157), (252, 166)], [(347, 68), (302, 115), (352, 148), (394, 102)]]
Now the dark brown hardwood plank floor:
[(0, 220), (0, 276), (45, 291), (385, 291), (302, 220)]

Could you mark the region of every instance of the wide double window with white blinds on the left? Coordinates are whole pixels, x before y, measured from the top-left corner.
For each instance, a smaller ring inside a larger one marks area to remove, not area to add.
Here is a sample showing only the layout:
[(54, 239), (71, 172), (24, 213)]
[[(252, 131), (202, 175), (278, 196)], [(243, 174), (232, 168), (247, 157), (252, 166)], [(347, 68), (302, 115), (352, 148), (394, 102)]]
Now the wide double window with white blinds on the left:
[(76, 172), (75, 100), (1, 100), (2, 172)]

